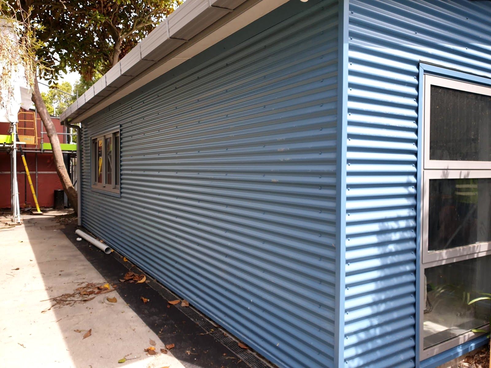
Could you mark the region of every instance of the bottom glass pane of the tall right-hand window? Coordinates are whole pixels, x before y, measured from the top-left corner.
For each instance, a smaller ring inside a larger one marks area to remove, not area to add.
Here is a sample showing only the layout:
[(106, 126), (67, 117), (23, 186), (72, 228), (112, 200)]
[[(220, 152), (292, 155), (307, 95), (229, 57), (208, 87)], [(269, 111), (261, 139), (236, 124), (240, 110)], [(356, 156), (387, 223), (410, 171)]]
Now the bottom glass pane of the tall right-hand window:
[(489, 322), (491, 301), (468, 305), (491, 292), (491, 256), (425, 269), (424, 348), (453, 339)]

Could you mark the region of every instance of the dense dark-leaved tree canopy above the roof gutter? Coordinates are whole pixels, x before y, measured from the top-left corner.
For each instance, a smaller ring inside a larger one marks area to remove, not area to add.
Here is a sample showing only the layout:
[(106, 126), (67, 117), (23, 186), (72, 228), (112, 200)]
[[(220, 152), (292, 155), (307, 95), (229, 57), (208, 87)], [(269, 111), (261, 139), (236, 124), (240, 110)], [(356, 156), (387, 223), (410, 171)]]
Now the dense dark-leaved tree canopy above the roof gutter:
[[(4, 0), (2, 0), (4, 1)], [(14, 0), (6, 0), (14, 2)], [(24, 0), (31, 3), (33, 0)], [(32, 21), (42, 25), (37, 57), (46, 80), (76, 71), (87, 80), (105, 74), (183, 0), (39, 0)], [(23, 5), (24, 6), (24, 5)], [(96, 79), (97, 80), (97, 79)]]

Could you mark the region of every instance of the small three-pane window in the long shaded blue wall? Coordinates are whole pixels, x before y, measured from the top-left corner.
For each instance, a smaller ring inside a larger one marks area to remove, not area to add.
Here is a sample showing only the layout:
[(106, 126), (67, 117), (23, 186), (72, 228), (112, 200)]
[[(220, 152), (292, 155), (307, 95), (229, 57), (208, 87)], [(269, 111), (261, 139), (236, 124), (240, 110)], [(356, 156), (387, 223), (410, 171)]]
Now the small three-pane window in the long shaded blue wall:
[(119, 128), (92, 137), (92, 188), (119, 193)]

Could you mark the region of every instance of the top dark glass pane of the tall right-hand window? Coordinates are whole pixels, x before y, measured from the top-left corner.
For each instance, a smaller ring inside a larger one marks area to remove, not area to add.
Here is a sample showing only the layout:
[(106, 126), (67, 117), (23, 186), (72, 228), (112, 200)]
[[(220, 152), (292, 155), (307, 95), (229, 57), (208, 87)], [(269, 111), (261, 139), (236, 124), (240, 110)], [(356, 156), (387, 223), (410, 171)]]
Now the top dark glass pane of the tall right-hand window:
[(430, 159), (491, 161), (491, 97), (431, 86)]

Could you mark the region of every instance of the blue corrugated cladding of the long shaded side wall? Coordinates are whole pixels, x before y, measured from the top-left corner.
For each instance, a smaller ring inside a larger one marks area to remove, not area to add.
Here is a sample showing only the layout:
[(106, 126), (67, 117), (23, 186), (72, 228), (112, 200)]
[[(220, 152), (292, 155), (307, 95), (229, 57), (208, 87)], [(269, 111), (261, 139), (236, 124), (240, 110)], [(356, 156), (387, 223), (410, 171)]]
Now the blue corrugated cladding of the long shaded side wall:
[[(315, 2), (82, 123), (83, 226), (285, 368), (333, 367), (337, 1)], [(121, 198), (88, 174), (117, 124)]]

